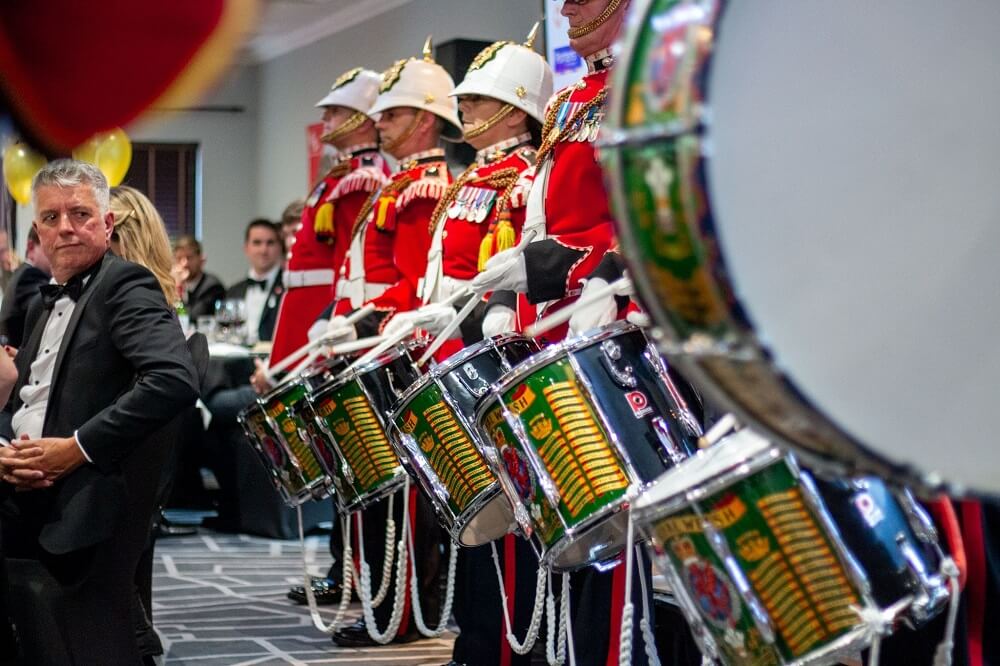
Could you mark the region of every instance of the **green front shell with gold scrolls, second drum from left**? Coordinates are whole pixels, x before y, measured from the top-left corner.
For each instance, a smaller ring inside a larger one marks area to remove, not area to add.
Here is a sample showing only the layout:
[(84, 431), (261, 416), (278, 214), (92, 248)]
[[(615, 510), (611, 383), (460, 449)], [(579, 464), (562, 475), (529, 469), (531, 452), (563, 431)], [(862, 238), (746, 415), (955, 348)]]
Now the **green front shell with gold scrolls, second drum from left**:
[(405, 472), (386, 435), (387, 424), (373, 407), (359, 373), (321, 386), (309, 400), (320, 431), (341, 455), (341, 464), (332, 471), (338, 477), (336, 485), (345, 490), (337, 500), (342, 511), (357, 511), (402, 485)]

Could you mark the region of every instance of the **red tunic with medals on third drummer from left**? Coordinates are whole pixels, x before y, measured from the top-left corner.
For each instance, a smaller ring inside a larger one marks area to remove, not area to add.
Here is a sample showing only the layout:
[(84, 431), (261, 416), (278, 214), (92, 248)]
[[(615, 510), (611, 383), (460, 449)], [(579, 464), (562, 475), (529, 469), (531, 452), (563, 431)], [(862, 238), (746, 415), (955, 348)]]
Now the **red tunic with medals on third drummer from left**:
[[(530, 140), (525, 134), (480, 150), (476, 162), (442, 197), (432, 221), (421, 304), (446, 300), (466, 286), (487, 259), (520, 240), (534, 175), (535, 149)], [(462, 346), (461, 340), (449, 340), (437, 359), (444, 360)]]

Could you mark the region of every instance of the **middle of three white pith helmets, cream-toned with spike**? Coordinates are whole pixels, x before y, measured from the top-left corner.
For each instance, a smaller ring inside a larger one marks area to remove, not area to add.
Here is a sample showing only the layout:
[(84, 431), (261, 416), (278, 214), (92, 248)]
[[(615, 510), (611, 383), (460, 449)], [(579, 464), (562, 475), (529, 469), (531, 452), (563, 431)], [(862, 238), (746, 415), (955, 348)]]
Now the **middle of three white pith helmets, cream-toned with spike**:
[(412, 107), (430, 111), (445, 121), (445, 135), (462, 136), (462, 123), (458, 119), (458, 104), (449, 97), (455, 81), (445, 68), (431, 57), (431, 40), (424, 44), (424, 57), (399, 60), (382, 72), (378, 99), (369, 115), (386, 109)]

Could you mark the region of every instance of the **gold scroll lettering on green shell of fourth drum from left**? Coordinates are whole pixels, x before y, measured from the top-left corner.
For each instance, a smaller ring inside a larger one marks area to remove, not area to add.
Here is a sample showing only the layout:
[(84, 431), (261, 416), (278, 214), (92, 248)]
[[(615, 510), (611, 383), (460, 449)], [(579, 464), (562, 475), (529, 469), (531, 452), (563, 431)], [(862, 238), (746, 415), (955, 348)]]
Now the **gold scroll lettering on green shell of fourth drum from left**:
[(625, 489), (628, 480), (577, 386), (556, 382), (543, 394), (558, 427), (538, 453), (575, 518), (600, 495)]

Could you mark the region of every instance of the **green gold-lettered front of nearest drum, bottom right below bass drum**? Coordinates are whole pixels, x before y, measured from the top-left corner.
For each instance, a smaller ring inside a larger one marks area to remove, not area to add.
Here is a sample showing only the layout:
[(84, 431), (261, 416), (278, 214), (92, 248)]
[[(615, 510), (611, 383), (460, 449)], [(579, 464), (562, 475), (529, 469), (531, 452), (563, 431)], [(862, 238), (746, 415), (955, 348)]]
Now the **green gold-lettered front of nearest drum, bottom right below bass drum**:
[[(740, 444), (716, 447), (732, 453)], [(654, 485), (633, 507), (704, 632), (696, 637), (739, 666), (812, 663), (865, 647), (855, 609), (874, 602), (818, 496), (778, 449), (750, 447), (747, 456), (704, 479), (696, 474), (704, 454), (682, 462), (663, 482), (683, 490), (659, 497)], [(763, 628), (755, 617), (766, 618)]]

